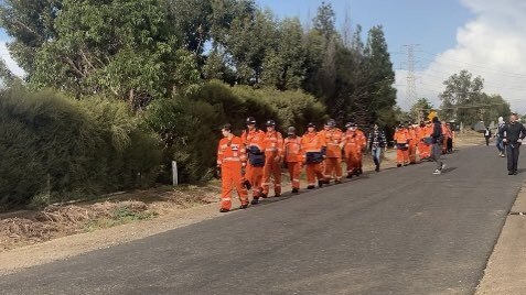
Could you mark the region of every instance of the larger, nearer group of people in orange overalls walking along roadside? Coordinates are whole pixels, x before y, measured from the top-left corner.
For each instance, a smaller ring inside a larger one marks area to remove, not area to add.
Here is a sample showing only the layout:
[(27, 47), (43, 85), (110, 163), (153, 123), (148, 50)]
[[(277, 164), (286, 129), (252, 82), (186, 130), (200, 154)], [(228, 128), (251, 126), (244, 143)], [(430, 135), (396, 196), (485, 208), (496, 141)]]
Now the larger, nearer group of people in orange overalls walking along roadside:
[[(291, 178), (292, 193), (300, 190), (300, 175), (307, 173), (307, 188), (316, 184), (322, 187), (334, 181), (342, 183), (342, 163), (346, 163), (346, 177), (361, 175), (363, 151), (367, 146), (365, 133), (354, 122), (345, 124), (342, 131), (334, 120), (329, 120), (323, 130), (309, 123), (303, 135), (297, 134), (294, 127), (287, 129), (283, 138), (276, 130), (276, 122), (267, 120), (266, 131), (257, 128), (254, 117), (246, 120), (247, 129), (240, 136), (232, 132), (230, 124), (222, 129), (223, 139), (217, 149), (217, 168), (222, 178), (221, 211), (232, 208), (232, 190), (236, 188), (240, 209), (256, 205), (267, 198), (270, 185), (275, 197), (281, 196), (281, 168), (286, 166)], [(375, 142), (376, 145), (376, 142)], [(379, 165), (379, 164), (378, 164)], [(378, 166), (377, 166), (378, 167)]]

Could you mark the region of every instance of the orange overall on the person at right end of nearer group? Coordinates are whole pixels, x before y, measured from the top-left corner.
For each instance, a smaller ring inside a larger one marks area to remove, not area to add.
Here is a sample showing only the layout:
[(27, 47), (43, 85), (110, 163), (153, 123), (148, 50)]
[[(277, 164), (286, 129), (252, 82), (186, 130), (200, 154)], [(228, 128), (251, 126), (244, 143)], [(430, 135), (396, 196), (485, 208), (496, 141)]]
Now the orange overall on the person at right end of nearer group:
[(347, 175), (358, 174), (362, 168), (362, 150), (367, 144), (367, 139), (361, 130), (347, 130), (343, 135), (343, 152), (347, 164)]

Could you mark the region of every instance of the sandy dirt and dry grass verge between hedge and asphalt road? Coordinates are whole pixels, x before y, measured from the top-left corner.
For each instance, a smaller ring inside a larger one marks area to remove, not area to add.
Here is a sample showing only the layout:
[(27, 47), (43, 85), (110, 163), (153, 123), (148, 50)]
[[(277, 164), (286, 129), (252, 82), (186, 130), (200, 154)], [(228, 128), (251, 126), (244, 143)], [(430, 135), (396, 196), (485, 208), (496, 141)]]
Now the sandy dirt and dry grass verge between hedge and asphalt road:
[[(480, 133), (457, 136), (455, 149), (483, 144)], [(385, 153), (383, 168), (396, 166), (396, 151)], [(364, 156), (364, 171), (374, 168)], [(304, 175), (302, 187), (305, 187)], [(97, 201), (50, 206), (40, 211), (0, 215), (0, 274), (142, 239), (222, 216), (219, 183), (158, 187)], [(290, 192), (283, 174), (283, 192)], [(236, 198), (233, 198), (236, 199)], [(234, 203), (234, 208), (239, 204)]]

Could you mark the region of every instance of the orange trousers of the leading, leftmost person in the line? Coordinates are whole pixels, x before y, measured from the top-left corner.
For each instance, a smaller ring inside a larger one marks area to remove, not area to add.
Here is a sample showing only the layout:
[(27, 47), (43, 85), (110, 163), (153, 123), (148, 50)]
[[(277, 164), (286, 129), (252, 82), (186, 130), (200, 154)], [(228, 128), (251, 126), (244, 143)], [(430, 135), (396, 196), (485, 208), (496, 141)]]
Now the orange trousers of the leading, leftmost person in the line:
[(241, 205), (248, 204), (248, 193), (243, 185), (241, 163), (223, 162), (221, 165), (221, 208), (232, 207), (232, 190), (235, 187)]

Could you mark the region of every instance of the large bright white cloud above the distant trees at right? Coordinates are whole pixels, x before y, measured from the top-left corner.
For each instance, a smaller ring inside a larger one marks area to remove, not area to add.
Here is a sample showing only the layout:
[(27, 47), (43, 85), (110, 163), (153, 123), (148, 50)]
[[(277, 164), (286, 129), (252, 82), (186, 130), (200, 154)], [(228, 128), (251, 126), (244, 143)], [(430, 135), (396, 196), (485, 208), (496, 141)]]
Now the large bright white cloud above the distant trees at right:
[[(526, 1), (462, 0), (475, 19), (457, 32), (457, 45), (438, 55), (417, 54), (430, 62), (417, 72), (418, 97), (428, 97), (440, 106), (442, 81), (462, 69), (484, 78), (484, 91), (502, 95), (512, 110), (526, 112)], [(422, 46), (425, 47), (425, 46)], [(407, 108), (406, 73), (397, 73), (398, 102)]]

